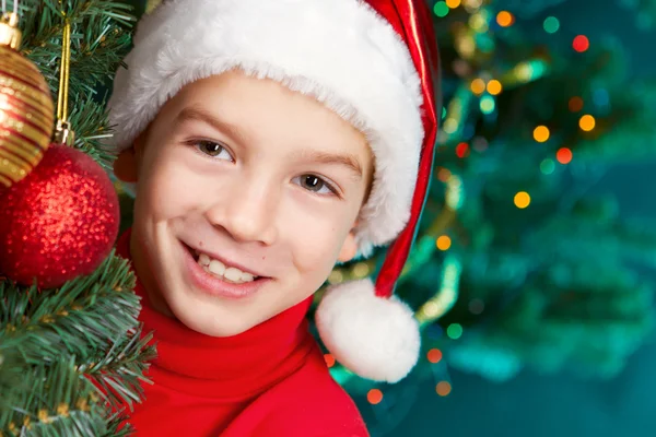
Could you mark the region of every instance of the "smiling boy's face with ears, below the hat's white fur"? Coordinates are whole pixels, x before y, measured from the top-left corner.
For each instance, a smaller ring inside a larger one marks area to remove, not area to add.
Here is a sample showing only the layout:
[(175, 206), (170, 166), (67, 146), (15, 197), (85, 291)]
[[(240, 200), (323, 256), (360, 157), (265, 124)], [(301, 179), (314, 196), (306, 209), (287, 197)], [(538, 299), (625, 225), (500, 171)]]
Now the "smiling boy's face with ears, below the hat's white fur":
[(354, 256), (373, 157), (315, 99), (229, 72), (168, 101), (116, 170), (138, 180), (131, 251), (155, 308), (227, 336), (307, 298)]

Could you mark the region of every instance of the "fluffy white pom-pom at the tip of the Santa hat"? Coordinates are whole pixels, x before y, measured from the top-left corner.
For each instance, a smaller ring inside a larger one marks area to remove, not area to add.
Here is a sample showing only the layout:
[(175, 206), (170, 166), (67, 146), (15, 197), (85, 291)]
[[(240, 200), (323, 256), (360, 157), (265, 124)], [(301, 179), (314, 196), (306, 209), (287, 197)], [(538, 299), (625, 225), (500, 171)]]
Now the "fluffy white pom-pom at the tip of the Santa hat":
[(316, 312), (324, 344), (363, 378), (397, 382), (417, 364), (421, 338), (408, 305), (375, 295), (371, 280), (330, 287)]

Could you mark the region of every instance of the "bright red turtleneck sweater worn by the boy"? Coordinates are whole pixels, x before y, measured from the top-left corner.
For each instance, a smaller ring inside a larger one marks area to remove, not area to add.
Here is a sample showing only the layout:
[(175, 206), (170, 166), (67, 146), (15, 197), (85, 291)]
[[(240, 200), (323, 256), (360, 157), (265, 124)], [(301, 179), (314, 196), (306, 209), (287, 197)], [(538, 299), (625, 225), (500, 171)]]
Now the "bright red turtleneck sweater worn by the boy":
[[(117, 251), (131, 259), (130, 232)], [(365, 437), (355, 404), (331, 378), (307, 329), (307, 299), (235, 336), (213, 338), (156, 312), (143, 286), (139, 316), (157, 358), (145, 401), (130, 423), (138, 437)]]

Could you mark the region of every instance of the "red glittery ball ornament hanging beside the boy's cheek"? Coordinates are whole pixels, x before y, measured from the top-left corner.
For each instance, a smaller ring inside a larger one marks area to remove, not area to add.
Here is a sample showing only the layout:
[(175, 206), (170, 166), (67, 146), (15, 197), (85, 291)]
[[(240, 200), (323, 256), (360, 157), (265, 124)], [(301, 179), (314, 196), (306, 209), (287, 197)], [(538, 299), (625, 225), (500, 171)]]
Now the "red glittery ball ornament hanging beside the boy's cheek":
[(52, 288), (92, 273), (118, 234), (118, 197), (103, 168), (51, 144), (24, 179), (0, 189), (0, 272)]

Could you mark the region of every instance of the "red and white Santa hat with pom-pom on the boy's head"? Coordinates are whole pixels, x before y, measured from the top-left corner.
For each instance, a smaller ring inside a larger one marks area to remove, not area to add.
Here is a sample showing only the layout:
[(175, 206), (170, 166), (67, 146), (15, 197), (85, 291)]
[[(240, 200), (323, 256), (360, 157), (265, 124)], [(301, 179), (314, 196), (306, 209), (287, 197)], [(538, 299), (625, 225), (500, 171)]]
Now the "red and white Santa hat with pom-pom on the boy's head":
[(359, 253), (391, 243), (376, 283), (327, 290), (321, 340), (355, 374), (396, 382), (420, 332), (394, 296), (423, 209), (437, 130), (437, 50), (422, 0), (166, 0), (140, 22), (109, 101), (119, 152), (180, 88), (238, 68), (311, 95), (367, 138), (374, 184), (355, 229)]

